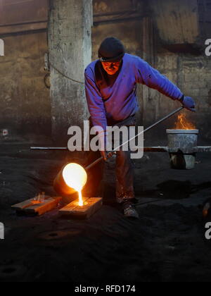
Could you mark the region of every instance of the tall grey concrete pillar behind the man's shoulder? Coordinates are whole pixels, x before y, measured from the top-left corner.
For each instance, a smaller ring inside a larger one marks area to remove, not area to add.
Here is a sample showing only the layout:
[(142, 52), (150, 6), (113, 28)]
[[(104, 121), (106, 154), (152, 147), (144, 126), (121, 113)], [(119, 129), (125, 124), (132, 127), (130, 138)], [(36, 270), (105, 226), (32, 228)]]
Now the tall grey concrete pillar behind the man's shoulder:
[(53, 0), (49, 13), (52, 137), (68, 142), (88, 118), (84, 68), (91, 63), (91, 0)]

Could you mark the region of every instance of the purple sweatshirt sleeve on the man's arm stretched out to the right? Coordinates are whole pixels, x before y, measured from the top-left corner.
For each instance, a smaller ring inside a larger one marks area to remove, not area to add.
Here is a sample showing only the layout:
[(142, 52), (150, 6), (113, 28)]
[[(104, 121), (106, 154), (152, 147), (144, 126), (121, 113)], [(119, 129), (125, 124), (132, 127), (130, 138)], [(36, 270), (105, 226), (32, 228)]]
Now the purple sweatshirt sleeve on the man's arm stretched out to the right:
[(137, 82), (158, 90), (161, 94), (165, 94), (165, 96), (174, 100), (179, 100), (183, 96), (181, 90), (174, 83), (151, 67), (146, 61), (141, 60), (141, 58), (138, 58), (136, 63), (136, 71)]

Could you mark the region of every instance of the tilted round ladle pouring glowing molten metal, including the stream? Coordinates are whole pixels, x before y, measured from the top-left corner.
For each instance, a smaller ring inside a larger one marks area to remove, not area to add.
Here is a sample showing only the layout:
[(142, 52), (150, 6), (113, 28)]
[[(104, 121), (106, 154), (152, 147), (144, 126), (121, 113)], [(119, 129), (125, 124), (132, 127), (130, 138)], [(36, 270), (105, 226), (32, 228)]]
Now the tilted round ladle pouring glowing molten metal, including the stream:
[(62, 197), (69, 197), (78, 192), (80, 205), (83, 204), (82, 189), (86, 183), (87, 172), (79, 164), (72, 163), (63, 166), (53, 182), (53, 188)]

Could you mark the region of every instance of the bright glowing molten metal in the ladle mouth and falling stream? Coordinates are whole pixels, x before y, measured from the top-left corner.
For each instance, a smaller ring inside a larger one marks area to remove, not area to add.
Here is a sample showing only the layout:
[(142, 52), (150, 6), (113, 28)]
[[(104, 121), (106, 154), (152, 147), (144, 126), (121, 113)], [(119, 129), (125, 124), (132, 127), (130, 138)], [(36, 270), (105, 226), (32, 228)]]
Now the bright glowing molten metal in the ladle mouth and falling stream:
[(79, 164), (68, 164), (63, 169), (65, 183), (79, 194), (79, 206), (83, 206), (82, 188), (87, 183), (87, 172)]

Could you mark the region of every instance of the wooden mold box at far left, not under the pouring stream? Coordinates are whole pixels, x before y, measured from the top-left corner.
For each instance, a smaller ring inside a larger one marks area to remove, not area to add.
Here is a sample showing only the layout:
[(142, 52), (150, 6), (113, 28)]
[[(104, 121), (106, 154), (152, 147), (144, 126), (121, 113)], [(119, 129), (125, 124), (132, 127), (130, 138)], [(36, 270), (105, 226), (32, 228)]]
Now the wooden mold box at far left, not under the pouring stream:
[(45, 196), (44, 202), (40, 202), (39, 204), (33, 204), (34, 198), (27, 199), (25, 202), (20, 202), (20, 204), (12, 206), (12, 209), (25, 214), (37, 214), (38, 216), (41, 216), (47, 211), (55, 209), (61, 199), (62, 197)]

